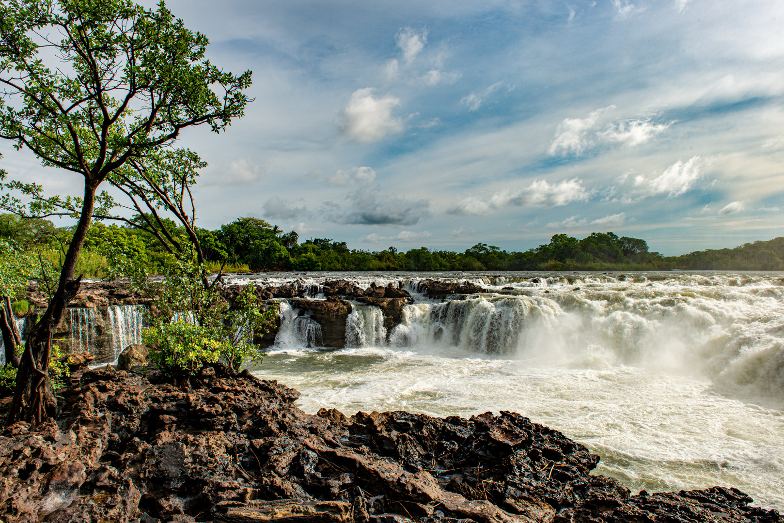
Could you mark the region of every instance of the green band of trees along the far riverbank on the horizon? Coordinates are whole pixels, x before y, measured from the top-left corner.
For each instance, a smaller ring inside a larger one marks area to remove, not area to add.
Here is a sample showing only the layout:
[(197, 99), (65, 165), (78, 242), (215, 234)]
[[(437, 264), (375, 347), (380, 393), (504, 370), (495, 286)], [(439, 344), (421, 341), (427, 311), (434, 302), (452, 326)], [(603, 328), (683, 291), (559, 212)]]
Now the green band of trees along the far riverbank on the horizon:
[[(132, 223), (142, 223), (134, 216)], [(187, 232), (168, 218), (162, 223), (171, 238)], [(506, 251), (477, 243), (463, 252), (419, 247), (406, 252), (394, 247), (379, 251), (349, 249), (346, 242), (310, 238), (299, 242), (296, 231), (283, 231), (259, 218), (241, 217), (215, 230), (194, 227), (205, 262), (213, 272), (224, 271), (666, 271), (784, 270), (784, 238), (753, 242), (734, 249), (706, 249), (681, 256), (662, 256), (648, 250), (641, 238), (612, 232), (578, 239), (555, 234), (546, 245), (526, 251)], [(49, 220), (25, 220), (0, 214), (0, 239), (25, 249), (40, 249), (57, 265), (72, 227), (55, 227)], [(79, 264), (85, 275), (106, 277), (113, 266), (107, 256), (117, 252), (130, 265), (145, 267), (148, 274), (165, 271), (169, 252), (157, 235), (126, 223), (122, 227), (96, 222), (89, 227)], [(116, 255), (115, 255), (116, 256)], [(114, 264), (116, 265), (116, 263)]]

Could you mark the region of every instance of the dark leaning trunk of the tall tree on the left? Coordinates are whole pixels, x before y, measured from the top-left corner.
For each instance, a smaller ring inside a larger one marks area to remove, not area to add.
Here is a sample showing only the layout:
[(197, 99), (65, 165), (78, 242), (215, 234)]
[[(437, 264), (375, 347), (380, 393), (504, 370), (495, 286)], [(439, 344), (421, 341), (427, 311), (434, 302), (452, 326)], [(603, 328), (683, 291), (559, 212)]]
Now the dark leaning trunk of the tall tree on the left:
[(76, 260), (87, 237), (90, 219), (95, 206), (96, 187), (85, 182), (84, 205), (74, 230), (74, 238), (65, 254), (57, 290), (49, 301), (41, 319), (33, 327), (16, 373), (16, 390), (9, 409), (6, 427), (17, 421), (34, 421), (56, 416), (57, 402), (49, 384), (49, 358), (52, 354), (52, 336), (63, 319), (68, 303), (74, 299), (82, 284), (82, 276), (74, 278)]

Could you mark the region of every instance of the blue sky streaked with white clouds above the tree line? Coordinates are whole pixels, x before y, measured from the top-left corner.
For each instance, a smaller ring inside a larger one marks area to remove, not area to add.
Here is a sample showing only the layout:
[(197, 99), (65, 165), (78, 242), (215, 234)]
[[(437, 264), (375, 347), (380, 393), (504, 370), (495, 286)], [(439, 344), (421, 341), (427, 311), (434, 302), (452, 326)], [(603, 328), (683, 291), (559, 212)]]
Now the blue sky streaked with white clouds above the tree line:
[(201, 227), (258, 216), (371, 250), (784, 235), (784, 2), (167, 5), (253, 71), (245, 118), (180, 140), (210, 164)]

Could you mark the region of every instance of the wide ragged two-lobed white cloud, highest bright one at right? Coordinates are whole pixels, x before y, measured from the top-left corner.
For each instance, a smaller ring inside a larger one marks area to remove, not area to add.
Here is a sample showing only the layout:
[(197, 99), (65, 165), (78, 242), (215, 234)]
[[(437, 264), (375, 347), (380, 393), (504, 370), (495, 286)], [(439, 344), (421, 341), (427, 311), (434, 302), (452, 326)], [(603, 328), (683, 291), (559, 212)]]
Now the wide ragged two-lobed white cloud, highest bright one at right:
[(674, 123), (656, 124), (651, 117), (607, 122), (607, 114), (613, 109), (615, 106), (611, 105), (592, 111), (586, 118), (564, 118), (558, 125), (547, 152), (551, 156), (579, 156), (597, 145), (619, 144), (634, 147), (664, 133)]

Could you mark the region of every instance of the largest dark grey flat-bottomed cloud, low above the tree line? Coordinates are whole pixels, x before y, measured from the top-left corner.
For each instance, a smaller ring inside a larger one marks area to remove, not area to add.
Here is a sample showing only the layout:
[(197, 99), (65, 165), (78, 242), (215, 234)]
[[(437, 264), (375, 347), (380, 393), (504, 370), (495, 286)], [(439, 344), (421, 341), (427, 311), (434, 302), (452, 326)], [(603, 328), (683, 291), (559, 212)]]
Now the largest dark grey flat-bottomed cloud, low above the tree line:
[(350, 225), (414, 225), (430, 216), (428, 200), (398, 198), (373, 187), (361, 187), (349, 194), (347, 200), (350, 201), (347, 210), (326, 202), (322, 206), (325, 217)]

